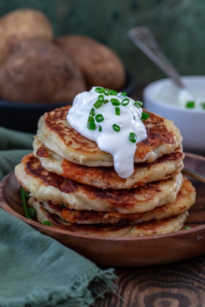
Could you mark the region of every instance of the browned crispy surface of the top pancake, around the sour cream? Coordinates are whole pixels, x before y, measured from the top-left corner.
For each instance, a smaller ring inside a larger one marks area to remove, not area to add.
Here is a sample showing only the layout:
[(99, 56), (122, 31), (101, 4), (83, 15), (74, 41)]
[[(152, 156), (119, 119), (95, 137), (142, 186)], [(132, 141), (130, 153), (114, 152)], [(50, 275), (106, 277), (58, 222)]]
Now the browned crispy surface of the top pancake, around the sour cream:
[[(66, 147), (75, 143), (75, 150), (82, 154), (97, 153), (101, 150), (97, 143), (85, 138), (72, 127), (65, 126), (66, 115), (70, 106), (57, 108), (45, 113), (47, 129), (57, 134)], [(146, 111), (146, 110), (145, 110)], [(154, 150), (160, 143), (176, 144), (173, 131), (168, 131), (164, 125), (164, 118), (149, 112), (150, 116), (143, 123), (147, 130), (147, 138), (137, 144), (135, 155), (143, 159), (148, 152)], [(69, 139), (69, 141), (66, 141)]]

